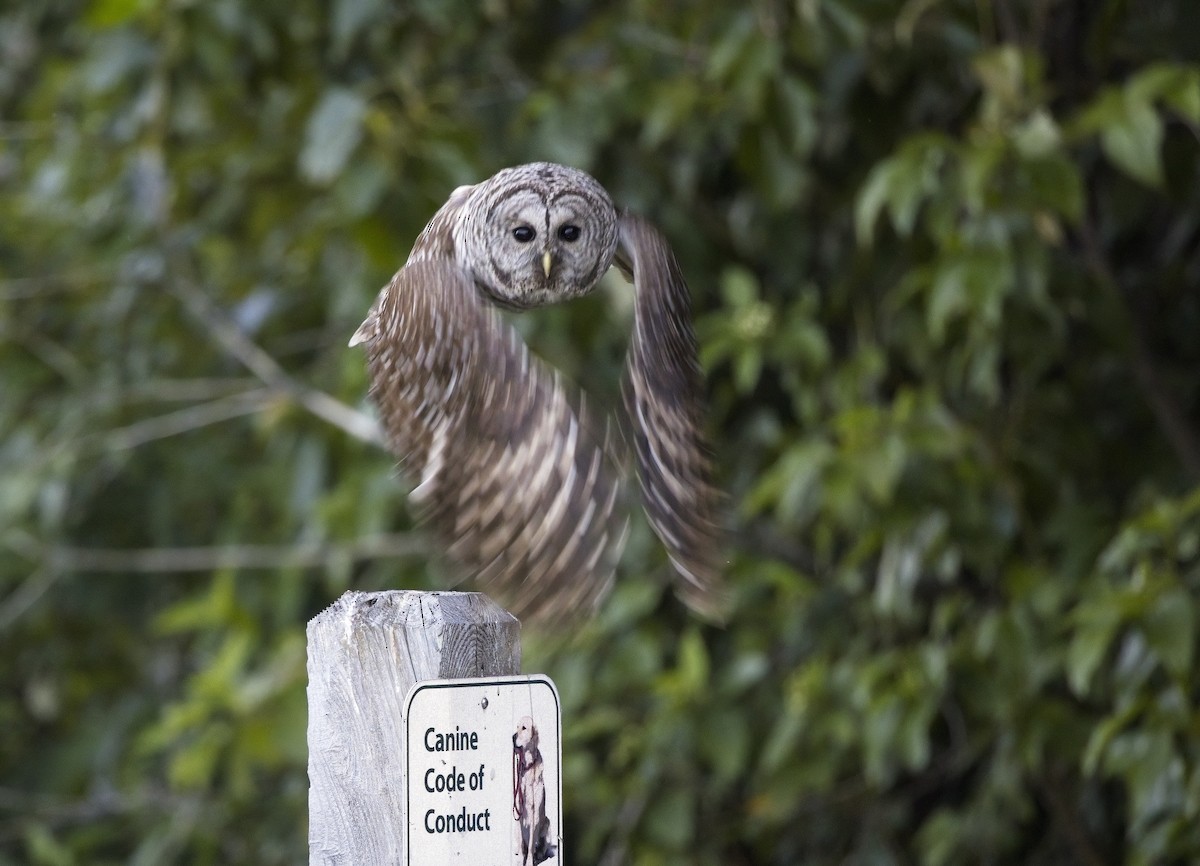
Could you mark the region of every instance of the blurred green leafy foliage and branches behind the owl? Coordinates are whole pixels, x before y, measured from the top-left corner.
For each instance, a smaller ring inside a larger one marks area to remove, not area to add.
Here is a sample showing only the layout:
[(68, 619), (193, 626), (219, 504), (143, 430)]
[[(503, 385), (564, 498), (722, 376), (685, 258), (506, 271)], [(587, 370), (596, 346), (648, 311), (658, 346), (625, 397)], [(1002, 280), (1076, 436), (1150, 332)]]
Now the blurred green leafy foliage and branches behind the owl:
[[(674, 245), (734, 525), (727, 627), (638, 524), (526, 630), (570, 861), (1200, 859), (1194, 18), (5, 4), (0, 862), (305, 860), (305, 621), (440, 585), (346, 342), (530, 160)], [(518, 324), (614, 403), (628, 291)]]

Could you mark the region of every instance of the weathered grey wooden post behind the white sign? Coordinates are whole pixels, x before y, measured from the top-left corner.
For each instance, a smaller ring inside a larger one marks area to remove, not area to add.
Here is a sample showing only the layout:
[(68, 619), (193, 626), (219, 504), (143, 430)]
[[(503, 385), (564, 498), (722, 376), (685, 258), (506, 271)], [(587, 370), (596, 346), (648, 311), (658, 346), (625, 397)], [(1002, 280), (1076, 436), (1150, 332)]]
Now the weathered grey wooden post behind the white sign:
[(413, 684), (521, 670), (521, 623), (479, 593), (346, 593), (308, 623), (308, 864), (404, 850)]

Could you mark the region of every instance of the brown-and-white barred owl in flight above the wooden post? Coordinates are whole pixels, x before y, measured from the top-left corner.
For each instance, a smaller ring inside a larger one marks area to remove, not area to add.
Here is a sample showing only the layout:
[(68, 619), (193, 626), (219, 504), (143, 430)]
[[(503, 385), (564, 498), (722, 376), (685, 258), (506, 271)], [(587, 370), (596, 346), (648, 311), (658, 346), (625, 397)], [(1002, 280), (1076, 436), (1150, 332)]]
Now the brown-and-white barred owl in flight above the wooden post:
[(366, 347), (410, 501), (449, 559), (517, 615), (586, 611), (625, 539), (619, 439), (497, 307), (587, 294), (612, 264), (636, 294), (622, 393), (642, 505), (680, 597), (716, 615), (719, 494), (688, 287), (662, 235), (590, 175), (532, 163), (455, 190), (350, 345)]

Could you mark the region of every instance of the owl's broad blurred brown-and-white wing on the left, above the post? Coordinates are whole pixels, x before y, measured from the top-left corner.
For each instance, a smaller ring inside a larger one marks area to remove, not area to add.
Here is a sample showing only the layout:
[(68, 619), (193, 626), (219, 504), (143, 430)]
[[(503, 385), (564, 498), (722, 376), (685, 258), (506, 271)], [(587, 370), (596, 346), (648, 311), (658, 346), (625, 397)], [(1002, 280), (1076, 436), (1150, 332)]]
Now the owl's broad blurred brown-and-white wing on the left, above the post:
[(376, 307), (371, 395), (450, 559), (518, 617), (594, 607), (624, 543), (604, 433), (452, 261), (406, 265)]

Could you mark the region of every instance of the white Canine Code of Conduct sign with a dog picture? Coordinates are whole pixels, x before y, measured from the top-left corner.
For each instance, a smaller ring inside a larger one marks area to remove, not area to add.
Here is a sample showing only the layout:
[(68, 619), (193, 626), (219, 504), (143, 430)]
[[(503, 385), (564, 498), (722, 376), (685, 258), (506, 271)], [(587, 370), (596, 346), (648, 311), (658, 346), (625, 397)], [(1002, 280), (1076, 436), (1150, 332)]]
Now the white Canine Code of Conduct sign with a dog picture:
[(408, 866), (560, 866), (562, 728), (548, 676), (413, 686), (404, 700)]

